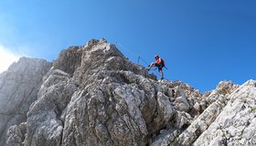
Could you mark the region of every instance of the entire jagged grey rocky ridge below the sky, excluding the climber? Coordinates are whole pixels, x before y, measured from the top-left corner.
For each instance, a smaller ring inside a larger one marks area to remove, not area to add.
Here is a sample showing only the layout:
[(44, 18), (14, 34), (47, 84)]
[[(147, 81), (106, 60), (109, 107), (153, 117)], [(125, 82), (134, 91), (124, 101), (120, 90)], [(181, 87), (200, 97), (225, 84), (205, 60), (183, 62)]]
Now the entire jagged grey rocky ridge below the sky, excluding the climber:
[(0, 144), (256, 145), (256, 81), (200, 93), (161, 82), (106, 40), (0, 74)]

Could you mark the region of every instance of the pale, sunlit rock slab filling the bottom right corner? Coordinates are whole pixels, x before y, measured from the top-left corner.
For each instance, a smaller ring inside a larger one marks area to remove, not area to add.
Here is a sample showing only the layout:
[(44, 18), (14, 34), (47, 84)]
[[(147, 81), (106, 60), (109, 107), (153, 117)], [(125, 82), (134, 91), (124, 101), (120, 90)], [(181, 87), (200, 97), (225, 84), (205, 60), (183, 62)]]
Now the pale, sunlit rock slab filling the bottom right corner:
[(194, 145), (256, 145), (256, 81), (229, 95), (228, 105)]

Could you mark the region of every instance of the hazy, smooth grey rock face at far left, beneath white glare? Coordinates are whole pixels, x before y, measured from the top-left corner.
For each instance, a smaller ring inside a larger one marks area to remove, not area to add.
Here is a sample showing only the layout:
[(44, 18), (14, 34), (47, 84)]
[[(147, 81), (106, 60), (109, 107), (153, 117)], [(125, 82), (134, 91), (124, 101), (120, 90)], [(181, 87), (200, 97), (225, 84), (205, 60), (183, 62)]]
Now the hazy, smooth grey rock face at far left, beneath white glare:
[(46, 60), (21, 57), (0, 74), (0, 145), (5, 144), (9, 127), (27, 120), (28, 108), (50, 67)]

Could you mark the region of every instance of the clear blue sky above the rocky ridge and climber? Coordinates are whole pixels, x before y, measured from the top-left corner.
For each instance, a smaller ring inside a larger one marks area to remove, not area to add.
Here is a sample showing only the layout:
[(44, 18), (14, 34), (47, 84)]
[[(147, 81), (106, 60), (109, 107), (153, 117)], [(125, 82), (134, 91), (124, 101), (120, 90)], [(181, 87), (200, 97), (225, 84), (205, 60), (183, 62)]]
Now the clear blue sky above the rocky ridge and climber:
[(159, 54), (165, 78), (206, 91), (220, 80), (256, 79), (255, 6), (255, 0), (1, 0), (0, 47), (51, 61), (64, 48), (104, 37), (121, 43), (133, 62), (140, 55), (150, 63)]

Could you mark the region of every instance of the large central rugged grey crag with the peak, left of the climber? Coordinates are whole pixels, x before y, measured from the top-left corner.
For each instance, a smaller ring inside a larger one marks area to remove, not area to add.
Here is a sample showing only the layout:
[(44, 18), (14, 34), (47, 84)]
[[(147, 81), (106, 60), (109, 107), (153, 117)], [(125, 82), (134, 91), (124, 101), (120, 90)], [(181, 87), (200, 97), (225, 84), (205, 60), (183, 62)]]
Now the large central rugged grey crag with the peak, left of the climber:
[(25, 137), (25, 145), (147, 145), (160, 130), (190, 124), (194, 102), (187, 96), (200, 94), (188, 89), (157, 83), (113, 45), (91, 40), (60, 53), (30, 106), (27, 130), (12, 127), (7, 143)]

